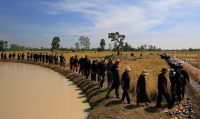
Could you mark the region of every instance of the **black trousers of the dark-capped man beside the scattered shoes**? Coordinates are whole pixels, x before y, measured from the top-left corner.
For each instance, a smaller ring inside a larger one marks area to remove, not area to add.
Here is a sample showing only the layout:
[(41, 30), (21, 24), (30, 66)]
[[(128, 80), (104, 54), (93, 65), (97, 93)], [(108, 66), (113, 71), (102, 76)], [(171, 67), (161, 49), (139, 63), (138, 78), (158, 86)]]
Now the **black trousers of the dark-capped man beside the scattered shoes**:
[(156, 107), (161, 107), (162, 95), (164, 95), (165, 99), (167, 100), (168, 108), (171, 108), (172, 105), (171, 105), (171, 100), (170, 100), (169, 94), (164, 93), (164, 92), (158, 92)]

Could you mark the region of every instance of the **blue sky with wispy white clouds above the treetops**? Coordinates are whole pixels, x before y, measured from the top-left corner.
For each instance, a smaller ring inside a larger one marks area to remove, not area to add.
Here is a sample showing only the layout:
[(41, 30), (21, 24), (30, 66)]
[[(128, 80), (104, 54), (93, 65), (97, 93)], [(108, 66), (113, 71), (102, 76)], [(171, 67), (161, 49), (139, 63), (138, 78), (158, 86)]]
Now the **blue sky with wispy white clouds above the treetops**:
[(113, 45), (118, 31), (132, 47), (200, 48), (200, 0), (0, 0), (0, 40), (50, 48), (75, 47), (80, 36), (90, 48)]

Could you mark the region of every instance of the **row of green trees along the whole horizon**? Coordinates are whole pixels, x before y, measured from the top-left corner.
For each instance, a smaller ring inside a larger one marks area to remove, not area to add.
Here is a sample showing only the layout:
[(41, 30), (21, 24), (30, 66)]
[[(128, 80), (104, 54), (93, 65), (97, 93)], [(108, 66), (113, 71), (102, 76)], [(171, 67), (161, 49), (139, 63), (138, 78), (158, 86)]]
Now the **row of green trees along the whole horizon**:
[[(117, 38), (116, 38), (116, 35)], [(20, 46), (18, 44), (10, 44), (10, 48), (8, 48), (8, 41), (0, 40), (0, 51), (72, 51), (72, 52), (79, 52), (79, 51), (200, 51), (198, 48), (189, 48), (189, 49), (161, 49), (157, 48), (153, 45), (141, 45), (138, 48), (133, 48), (131, 44), (128, 42), (124, 43), (125, 35), (120, 35), (118, 32), (116, 33), (109, 33), (108, 38), (112, 38), (111, 41), (113, 42), (113, 45), (110, 43), (108, 44), (108, 48), (106, 49), (106, 41), (102, 38), (99, 42), (98, 48), (90, 48), (90, 39), (85, 36), (81, 36), (78, 39), (78, 42), (75, 43), (75, 47), (71, 48), (63, 48), (60, 47), (60, 38), (58, 36), (55, 36), (51, 43), (51, 48), (32, 48), (32, 47), (26, 47), (26, 46)]]

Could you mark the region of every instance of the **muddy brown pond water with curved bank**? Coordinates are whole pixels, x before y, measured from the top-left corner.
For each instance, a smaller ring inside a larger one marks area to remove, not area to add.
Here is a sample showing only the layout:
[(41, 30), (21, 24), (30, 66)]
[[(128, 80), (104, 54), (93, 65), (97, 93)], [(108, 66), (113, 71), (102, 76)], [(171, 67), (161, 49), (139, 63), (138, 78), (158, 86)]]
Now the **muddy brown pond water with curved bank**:
[(0, 119), (84, 119), (89, 110), (80, 89), (64, 76), (0, 62)]

